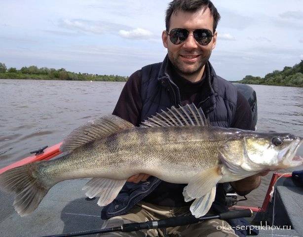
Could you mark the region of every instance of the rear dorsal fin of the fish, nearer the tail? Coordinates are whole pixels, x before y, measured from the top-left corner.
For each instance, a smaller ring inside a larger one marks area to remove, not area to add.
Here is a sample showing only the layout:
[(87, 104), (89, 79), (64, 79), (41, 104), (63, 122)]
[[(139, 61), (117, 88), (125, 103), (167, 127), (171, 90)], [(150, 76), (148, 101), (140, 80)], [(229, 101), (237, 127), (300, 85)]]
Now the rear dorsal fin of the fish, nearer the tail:
[(132, 123), (114, 115), (97, 118), (72, 131), (63, 141), (60, 151), (71, 152), (77, 147), (92, 142), (97, 138), (107, 137), (117, 131), (128, 129), (133, 126)]

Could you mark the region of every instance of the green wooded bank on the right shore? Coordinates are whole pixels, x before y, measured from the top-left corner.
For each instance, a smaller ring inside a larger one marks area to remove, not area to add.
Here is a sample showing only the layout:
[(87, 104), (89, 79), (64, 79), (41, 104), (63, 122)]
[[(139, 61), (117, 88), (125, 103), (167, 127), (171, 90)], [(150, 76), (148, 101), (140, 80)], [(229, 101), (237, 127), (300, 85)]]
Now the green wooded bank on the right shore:
[(242, 80), (233, 81), (243, 84), (258, 84), (258, 85), (282, 85), (303, 87), (303, 60), (295, 64), (293, 67), (284, 67), (282, 71), (275, 70), (268, 73), (264, 78), (246, 76)]

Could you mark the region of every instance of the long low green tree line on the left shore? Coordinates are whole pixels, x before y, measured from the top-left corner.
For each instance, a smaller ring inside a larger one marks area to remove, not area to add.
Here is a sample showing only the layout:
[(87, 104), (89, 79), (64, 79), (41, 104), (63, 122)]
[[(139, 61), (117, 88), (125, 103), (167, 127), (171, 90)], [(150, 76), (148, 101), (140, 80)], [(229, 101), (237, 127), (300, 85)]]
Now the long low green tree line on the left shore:
[(88, 73), (73, 73), (64, 68), (38, 68), (37, 66), (7, 69), (0, 63), (0, 79), (46, 79), (46, 80), (98, 80), (98, 81), (127, 81), (128, 77), (117, 75), (98, 75)]

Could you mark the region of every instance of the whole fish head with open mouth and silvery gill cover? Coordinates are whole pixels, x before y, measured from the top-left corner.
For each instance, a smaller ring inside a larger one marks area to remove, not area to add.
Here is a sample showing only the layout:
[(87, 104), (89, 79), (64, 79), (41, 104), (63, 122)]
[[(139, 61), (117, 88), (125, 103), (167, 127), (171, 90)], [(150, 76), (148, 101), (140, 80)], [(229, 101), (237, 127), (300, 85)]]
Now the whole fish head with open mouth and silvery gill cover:
[(220, 155), (234, 173), (285, 169), (303, 164), (303, 158), (296, 156), (302, 143), (303, 138), (289, 133), (242, 130), (225, 142)]

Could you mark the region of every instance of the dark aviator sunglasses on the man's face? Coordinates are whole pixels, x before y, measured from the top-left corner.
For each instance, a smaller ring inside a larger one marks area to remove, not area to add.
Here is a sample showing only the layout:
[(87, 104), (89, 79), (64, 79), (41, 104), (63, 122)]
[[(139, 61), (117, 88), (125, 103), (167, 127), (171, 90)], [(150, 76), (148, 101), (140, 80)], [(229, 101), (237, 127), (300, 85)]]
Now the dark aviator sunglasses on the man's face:
[(169, 39), (173, 44), (180, 44), (184, 42), (189, 37), (189, 32), (193, 33), (193, 38), (201, 45), (207, 45), (210, 43), (213, 37), (213, 33), (207, 29), (197, 29), (197, 30), (190, 30), (190, 29), (183, 29), (183, 28), (175, 28), (167, 32), (169, 35)]

